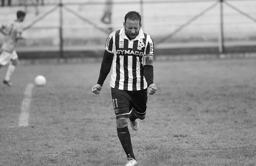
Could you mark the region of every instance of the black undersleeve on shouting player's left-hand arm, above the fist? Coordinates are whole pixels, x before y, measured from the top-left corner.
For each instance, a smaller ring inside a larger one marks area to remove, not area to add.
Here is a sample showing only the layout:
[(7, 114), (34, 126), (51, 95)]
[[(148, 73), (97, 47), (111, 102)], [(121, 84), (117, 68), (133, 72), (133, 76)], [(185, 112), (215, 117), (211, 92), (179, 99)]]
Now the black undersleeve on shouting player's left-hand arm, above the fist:
[(108, 51), (105, 51), (102, 62), (101, 62), (101, 70), (99, 72), (99, 79), (97, 84), (103, 85), (104, 81), (106, 80), (106, 77), (108, 76), (113, 61), (113, 54), (109, 53)]

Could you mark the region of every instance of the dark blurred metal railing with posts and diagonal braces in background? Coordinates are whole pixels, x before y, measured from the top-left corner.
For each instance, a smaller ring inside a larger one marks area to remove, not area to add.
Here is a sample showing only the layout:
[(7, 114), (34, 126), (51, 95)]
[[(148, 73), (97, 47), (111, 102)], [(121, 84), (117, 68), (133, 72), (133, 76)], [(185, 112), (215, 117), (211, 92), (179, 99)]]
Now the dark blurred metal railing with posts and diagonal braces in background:
[[(192, 22), (194, 22), (196, 19), (200, 18), (201, 16), (203, 16), (205, 13), (207, 13), (208, 11), (210, 11), (212, 8), (216, 7), (218, 4), (220, 5), (220, 14), (219, 14), (219, 53), (225, 53), (225, 45), (224, 45), (224, 32), (223, 32), (223, 25), (224, 25), (224, 21), (223, 21), (223, 5), (226, 5), (230, 8), (232, 8), (233, 10), (237, 11), (238, 13), (240, 13), (241, 15), (245, 16), (248, 19), (251, 19), (253, 22), (256, 23), (256, 18), (254, 18), (253, 16), (249, 15), (248, 13), (246, 13), (245, 11), (242, 11), (241, 9), (231, 5), (229, 3), (229, 1), (239, 1), (239, 0), (158, 0), (158, 1), (146, 1), (146, 0), (139, 0), (139, 1), (120, 1), (120, 2), (114, 2), (111, 4), (137, 4), (140, 5), (140, 13), (143, 16), (143, 7), (146, 4), (166, 4), (166, 3), (199, 3), (199, 2), (212, 2), (211, 5), (209, 5), (208, 7), (206, 7), (205, 9), (203, 9), (202, 11), (199, 11), (198, 14), (196, 14), (195, 16), (193, 16), (191, 19), (187, 20), (187, 22), (185, 22), (184, 24), (181, 24), (180, 26), (178, 26), (173, 32), (168, 32), (165, 36), (163, 36), (161, 39), (159, 39), (155, 45), (161, 44), (163, 42), (166, 42), (166, 40), (172, 38), (174, 35), (176, 35), (179, 31), (181, 31), (184, 27), (187, 27), (189, 24), (191, 24)], [(246, 1), (247, 0), (243, 0)], [(252, 1), (252, 0), (250, 0)], [(68, 11), (70, 13), (72, 13), (73, 15), (75, 15), (77, 18), (83, 20), (84, 22), (90, 24), (91, 26), (93, 26), (95, 29), (102, 31), (106, 34), (109, 34), (110, 31), (108, 31), (108, 29), (106, 28), (102, 28), (100, 26), (98, 26), (97, 24), (95, 24), (93, 21), (91, 21), (90, 19), (87, 19), (86, 17), (80, 15), (78, 12), (74, 11), (73, 9), (69, 8), (69, 5), (104, 5), (104, 4), (108, 4), (106, 2), (94, 2), (94, 1), (90, 1), (90, 2), (86, 2), (86, 3), (75, 3), (75, 2), (65, 2), (63, 3), (63, 0), (59, 0), (57, 1), (57, 3), (45, 3), (45, 6), (54, 6), (52, 9), (50, 9), (49, 11), (43, 13), (41, 16), (38, 16), (38, 18), (36, 20), (34, 20), (27, 28), (30, 28), (32, 26), (34, 26), (37, 22), (41, 21), (42, 19), (44, 19), (46, 16), (50, 15), (53, 11), (59, 9), (59, 41), (60, 41), (60, 57), (63, 57), (63, 9), (65, 11)], [(13, 6), (18, 6), (18, 5), (25, 5), (27, 6), (35, 6), (37, 7), (37, 4), (32, 4), (32, 3), (26, 3), (26, 4), (12, 4)], [(110, 3), (109, 3), (110, 5)]]

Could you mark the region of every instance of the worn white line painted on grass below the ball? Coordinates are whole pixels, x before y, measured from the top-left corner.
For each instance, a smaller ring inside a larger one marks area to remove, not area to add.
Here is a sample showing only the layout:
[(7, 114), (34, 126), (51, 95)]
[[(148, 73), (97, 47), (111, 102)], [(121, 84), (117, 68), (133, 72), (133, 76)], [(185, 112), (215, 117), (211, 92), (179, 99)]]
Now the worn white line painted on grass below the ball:
[(21, 112), (19, 116), (19, 126), (26, 127), (29, 126), (29, 107), (31, 101), (31, 94), (34, 88), (34, 84), (30, 83), (27, 85), (26, 90), (24, 92), (24, 99), (21, 105)]

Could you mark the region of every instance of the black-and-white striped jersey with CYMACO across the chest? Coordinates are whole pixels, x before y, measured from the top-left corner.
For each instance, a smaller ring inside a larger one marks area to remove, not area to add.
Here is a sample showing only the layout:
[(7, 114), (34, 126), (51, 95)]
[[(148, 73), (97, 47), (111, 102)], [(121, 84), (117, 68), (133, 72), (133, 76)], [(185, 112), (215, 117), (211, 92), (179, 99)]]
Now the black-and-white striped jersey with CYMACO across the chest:
[(154, 43), (140, 29), (135, 39), (129, 40), (125, 29), (112, 32), (106, 40), (105, 50), (114, 54), (109, 85), (121, 90), (147, 88), (143, 65), (153, 65)]

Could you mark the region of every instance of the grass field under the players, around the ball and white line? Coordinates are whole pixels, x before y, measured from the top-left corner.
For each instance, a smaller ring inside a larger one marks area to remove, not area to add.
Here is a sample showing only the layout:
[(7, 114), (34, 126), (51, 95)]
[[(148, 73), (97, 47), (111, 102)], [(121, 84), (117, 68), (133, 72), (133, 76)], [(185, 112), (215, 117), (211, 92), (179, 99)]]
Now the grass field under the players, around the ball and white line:
[[(155, 61), (158, 91), (130, 129), (138, 166), (255, 166), (256, 59)], [(91, 92), (100, 62), (20, 65), (0, 84), (1, 166), (124, 166), (109, 77)], [(4, 78), (7, 67), (0, 70)], [(29, 125), (19, 127), (25, 89)], [(32, 84), (33, 85), (33, 84)]]

